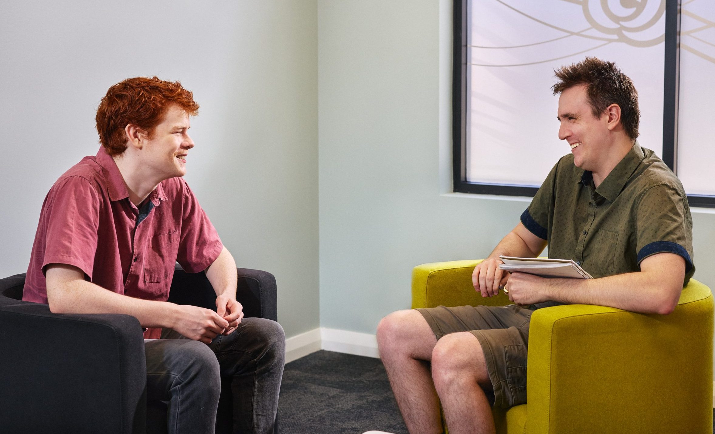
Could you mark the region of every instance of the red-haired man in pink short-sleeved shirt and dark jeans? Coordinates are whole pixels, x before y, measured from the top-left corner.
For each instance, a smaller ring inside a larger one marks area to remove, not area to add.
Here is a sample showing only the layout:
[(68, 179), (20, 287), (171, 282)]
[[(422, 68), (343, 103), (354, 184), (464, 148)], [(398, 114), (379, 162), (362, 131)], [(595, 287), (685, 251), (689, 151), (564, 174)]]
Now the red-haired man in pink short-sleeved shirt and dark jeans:
[[(179, 82), (109, 88), (97, 109), (102, 147), (42, 205), (23, 299), (137, 317), (147, 398), (168, 402), (169, 433), (214, 432), (220, 375), (231, 378), (234, 432), (273, 433), (285, 335), (277, 322), (243, 318), (236, 263), (182, 179), (198, 109)], [(206, 272), (217, 312), (167, 302), (175, 262)]]

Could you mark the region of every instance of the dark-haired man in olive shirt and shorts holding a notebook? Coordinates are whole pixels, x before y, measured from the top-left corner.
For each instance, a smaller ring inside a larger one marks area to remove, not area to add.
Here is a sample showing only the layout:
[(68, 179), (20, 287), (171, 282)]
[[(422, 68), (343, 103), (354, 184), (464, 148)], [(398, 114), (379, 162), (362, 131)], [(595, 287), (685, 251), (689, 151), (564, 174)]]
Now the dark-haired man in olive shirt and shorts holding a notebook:
[[(559, 160), (521, 222), (472, 275), (475, 290), (515, 305), (402, 310), (378, 325), (380, 357), (410, 433), (493, 433), (491, 405), (526, 402), (533, 310), (562, 303), (666, 315), (694, 273), (692, 222), (679, 179), (636, 142), (638, 94), (612, 62), (556, 71)], [(576, 260), (593, 277), (545, 279), (498, 269), (500, 255)], [(628, 287), (628, 291), (623, 291)], [(531, 305), (531, 308), (520, 306)]]

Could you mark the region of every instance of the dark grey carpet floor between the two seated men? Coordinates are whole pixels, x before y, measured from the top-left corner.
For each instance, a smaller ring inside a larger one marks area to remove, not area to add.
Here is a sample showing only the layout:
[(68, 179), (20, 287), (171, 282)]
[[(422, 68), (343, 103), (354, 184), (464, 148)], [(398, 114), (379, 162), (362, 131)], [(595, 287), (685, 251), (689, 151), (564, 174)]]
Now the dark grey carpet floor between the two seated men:
[(407, 434), (380, 359), (318, 351), (285, 365), (280, 434)]

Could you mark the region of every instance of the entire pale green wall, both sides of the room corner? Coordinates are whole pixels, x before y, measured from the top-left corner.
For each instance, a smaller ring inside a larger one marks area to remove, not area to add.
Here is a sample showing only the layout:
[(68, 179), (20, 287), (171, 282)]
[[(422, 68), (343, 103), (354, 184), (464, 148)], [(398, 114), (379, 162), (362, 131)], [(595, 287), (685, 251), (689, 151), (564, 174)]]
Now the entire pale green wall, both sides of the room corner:
[[(1, 4), (0, 275), (24, 272), (44, 194), (96, 152), (99, 97), (159, 74), (202, 104), (187, 179), (237, 262), (276, 275), (287, 335), (374, 333), (410, 305), (414, 265), (487, 255), (526, 207), (440, 195), (450, 5)], [(117, 18), (132, 9), (147, 12)], [(694, 224), (696, 278), (715, 287), (715, 214)]]

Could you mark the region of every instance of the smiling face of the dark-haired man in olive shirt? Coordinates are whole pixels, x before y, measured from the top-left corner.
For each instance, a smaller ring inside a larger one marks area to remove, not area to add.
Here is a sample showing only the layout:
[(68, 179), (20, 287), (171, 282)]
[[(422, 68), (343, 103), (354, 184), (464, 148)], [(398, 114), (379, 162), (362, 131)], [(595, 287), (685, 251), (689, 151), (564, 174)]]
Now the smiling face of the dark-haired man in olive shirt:
[(573, 164), (600, 172), (608, 159), (608, 115), (594, 117), (588, 104), (586, 86), (564, 90), (558, 98), (558, 138), (566, 140), (573, 153)]

